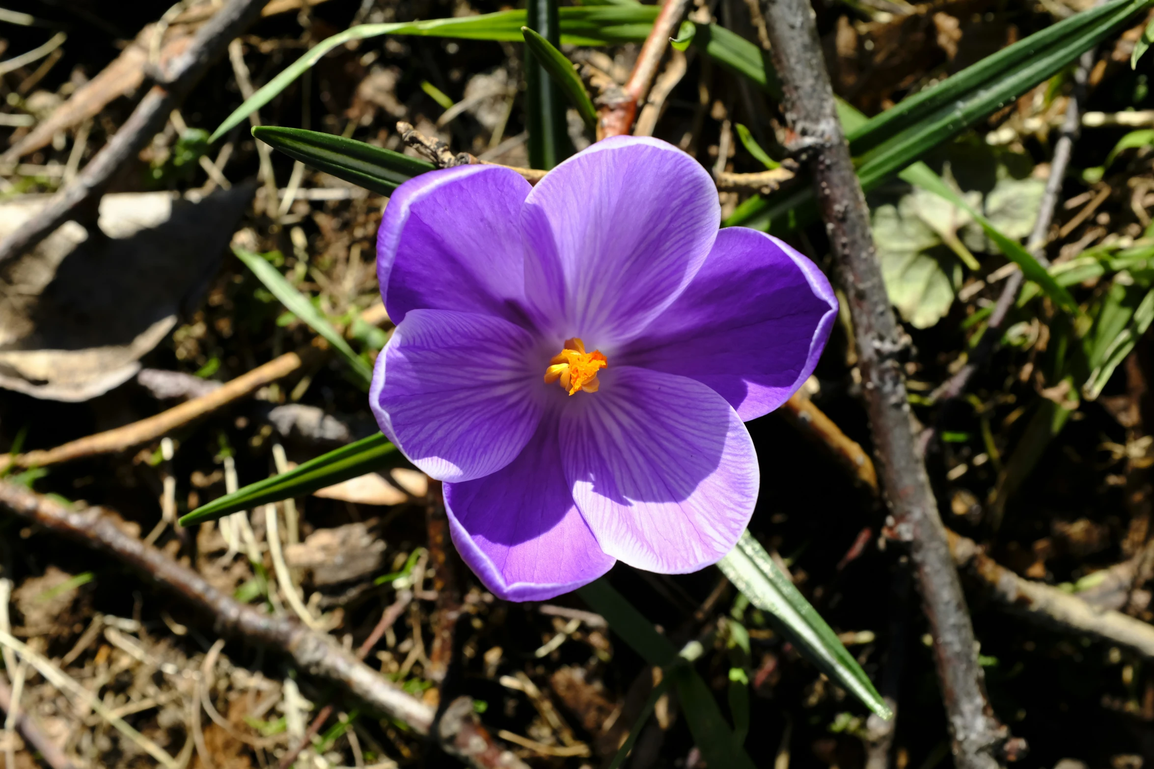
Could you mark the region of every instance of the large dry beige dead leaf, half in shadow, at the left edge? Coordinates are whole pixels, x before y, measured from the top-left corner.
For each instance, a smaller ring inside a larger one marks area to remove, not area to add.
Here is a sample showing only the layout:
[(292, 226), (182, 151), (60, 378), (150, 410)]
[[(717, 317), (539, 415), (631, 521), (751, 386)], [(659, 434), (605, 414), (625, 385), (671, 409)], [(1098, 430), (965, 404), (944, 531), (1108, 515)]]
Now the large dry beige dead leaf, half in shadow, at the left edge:
[[(69, 221), (0, 267), (0, 387), (82, 401), (123, 383), (216, 273), (252, 184), (192, 203), (106, 195), (96, 226)], [(0, 204), (0, 236), (46, 197)]]

